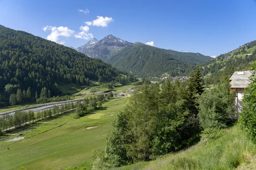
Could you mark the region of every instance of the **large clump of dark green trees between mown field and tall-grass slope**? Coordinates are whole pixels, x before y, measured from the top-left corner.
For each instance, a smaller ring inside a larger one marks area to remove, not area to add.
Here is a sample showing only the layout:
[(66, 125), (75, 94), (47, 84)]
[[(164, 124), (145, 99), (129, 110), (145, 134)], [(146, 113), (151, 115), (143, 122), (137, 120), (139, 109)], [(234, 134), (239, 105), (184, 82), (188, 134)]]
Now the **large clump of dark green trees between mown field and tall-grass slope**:
[[(195, 94), (193, 99), (197, 99), (196, 95), (202, 91), (200, 73), (196, 72), (191, 79), (191, 84), (193, 81), (195, 85), (191, 93)], [(129, 104), (116, 115), (113, 130), (108, 133), (104, 155), (108, 163), (116, 167), (149, 161), (198, 141), (201, 131), (198, 111), (189, 110), (189, 100), (183, 94), (188, 92), (184, 91), (183, 82), (169, 80), (162, 91), (157, 83), (148, 84), (147, 81), (136, 88)]]

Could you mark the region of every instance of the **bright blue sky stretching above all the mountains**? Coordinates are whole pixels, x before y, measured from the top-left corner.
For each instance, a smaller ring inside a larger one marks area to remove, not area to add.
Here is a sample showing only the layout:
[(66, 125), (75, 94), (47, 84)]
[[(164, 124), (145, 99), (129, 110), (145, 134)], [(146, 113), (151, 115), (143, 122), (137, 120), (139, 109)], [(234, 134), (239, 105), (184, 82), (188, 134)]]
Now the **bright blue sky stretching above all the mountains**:
[(0, 25), (75, 48), (112, 34), (218, 56), (256, 40), (255, 17), (256, 0), (0, 0)]

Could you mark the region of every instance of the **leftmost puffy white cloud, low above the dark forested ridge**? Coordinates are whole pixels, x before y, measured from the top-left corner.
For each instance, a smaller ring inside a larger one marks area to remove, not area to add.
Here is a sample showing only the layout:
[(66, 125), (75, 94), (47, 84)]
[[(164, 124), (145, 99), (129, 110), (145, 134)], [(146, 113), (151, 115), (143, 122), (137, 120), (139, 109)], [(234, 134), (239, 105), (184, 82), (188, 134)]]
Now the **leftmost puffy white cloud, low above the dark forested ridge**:
[(46, 26), (42, 28), (44, 31), (51, 30), (52, 33), (47, 36), (47, 40), (51, 40), (54, 42), (57, 42), (59, 44), (64, 44), (64, 41), (59, 41), (59, 37), (70, 37), (72, 34), (74, 34), (75, 31), (67, 28), (67, 27), (55, 27), (55, 26)]

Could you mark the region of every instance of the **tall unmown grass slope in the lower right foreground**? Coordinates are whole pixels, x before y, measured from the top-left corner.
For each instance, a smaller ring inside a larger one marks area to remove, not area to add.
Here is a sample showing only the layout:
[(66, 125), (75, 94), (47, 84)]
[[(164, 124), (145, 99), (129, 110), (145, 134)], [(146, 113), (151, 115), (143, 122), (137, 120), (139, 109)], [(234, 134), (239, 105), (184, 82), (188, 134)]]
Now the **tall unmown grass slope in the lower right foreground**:
[(224, 130), (217, 140), (201, 143), (154, 161), (139, 162), (118, 170), (240, 170), (256, 169), (256, 146), (248, 141), (238, 126)]

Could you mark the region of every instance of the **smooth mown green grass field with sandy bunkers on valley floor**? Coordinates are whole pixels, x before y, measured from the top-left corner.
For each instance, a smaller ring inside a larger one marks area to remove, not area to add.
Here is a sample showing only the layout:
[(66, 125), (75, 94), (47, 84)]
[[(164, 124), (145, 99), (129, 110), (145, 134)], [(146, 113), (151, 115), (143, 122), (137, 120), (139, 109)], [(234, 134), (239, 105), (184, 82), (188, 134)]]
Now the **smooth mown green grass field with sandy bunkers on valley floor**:
[(72, 113), (63, 116), (23, 132), (25, 138), (19, 141), (0, 141), (0, 170), (58, 170), (91, 161), (94, 149), (105, 149), (111, 121), (127, 99), (108, 100), (102, 110), (80, 119), (74, 119)]

